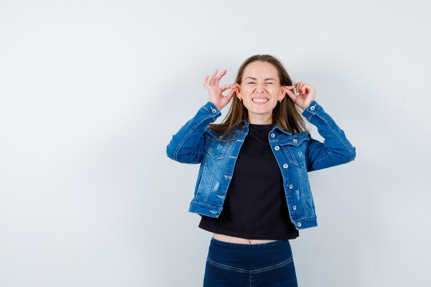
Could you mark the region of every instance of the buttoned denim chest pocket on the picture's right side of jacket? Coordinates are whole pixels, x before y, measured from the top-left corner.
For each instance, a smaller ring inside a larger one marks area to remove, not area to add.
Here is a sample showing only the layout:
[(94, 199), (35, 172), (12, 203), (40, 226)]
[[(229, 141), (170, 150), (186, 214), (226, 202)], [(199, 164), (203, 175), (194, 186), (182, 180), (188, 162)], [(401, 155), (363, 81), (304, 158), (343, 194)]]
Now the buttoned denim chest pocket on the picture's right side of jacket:
[(306, 136), (293, 136), (284, 142), (279, 142), (281, 149), (286, 154), (289, 162), (300, 168), (306, 167), (306, 147), (309, 139)]

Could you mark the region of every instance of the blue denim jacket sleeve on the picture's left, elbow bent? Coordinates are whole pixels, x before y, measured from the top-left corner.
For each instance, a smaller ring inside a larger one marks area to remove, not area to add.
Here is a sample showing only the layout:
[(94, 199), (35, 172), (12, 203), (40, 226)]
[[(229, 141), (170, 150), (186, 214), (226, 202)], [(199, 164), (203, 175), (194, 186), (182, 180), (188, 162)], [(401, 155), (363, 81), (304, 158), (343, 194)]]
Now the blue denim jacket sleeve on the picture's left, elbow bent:
[(205, 131), (222, 113), (208, 101), (200, 107), (193, 118), (174, 134), (166, 147), (169, 158), (177, 162), (196, 164), (202, 161), (205, 145)]

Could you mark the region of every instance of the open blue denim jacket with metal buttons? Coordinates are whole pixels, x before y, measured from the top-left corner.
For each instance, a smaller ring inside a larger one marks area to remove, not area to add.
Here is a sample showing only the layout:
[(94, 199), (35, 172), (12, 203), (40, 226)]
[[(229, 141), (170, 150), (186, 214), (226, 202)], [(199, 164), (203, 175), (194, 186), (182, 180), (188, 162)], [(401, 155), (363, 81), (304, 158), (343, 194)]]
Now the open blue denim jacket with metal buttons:
[[(242, 120), (231, 136), (234, 140), (219, 138), (208, 124), (220, 115), (220, 110), (207, 102), (172, 136), (166, 148), (167, 156), (172, 160), (200, 163), (189, 212), (211, 217), (218, 217), (222, 212), (236, 159), (249, 132), (249, 123)], [(277, 126), (268, 135), (282, 172), (290, 220), (297, 230), (317, 226), (308, 171), (344, 164), (356, 156), (356, 149), (344, 131), (315, 100), (302, 111), (302, 116), (317, 127), (324, 143), (311, 138), (308, 131), (291, 134)]]

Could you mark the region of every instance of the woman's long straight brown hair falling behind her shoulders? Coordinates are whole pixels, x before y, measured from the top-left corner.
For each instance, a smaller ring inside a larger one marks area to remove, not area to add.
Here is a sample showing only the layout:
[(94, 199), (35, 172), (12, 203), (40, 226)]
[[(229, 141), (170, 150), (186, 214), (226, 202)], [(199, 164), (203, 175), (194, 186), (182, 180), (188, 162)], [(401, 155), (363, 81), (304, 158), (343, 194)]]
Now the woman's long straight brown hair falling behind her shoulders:
[[(271, 63), (278, 71), (280, 85), (293, 85), (291, 77), (286, 72), (286, 69), (283, 67), (282, 63), (271, 55), (254, 55), (249, 57), (249, 59), (246, 59), (246, 61), (242, 63), (240, 69), (238, 70), (235, 83), (241, 85), (242, 75), (244, 74), (245, 68), (254, 61)], [(228, 136), (229, 138), (232, 132), (240, 126), (242, 120), (247, 121), (247, 109), (242, 101), (238, 99), (235, 93), (232, 97), (231, 107), (229, 108), (227, 116), (224, 118), (222, 123), (210, 123), (209, 128), (218, 132), (220, 138), (224, 138), (224, 136)], [(293, 103), (293, 100), (287, 94), (284, 96), (282, 102), (277, 102), (277, 105), (274, 107), (272, 120), (273, 125), (277, 125), (277, 127), (280, 127), (280, 129), (288, 131), (291, 134), (298, 134), (302, 131), (307, 131), (301, 113), (297, 109), (295, 103)]]

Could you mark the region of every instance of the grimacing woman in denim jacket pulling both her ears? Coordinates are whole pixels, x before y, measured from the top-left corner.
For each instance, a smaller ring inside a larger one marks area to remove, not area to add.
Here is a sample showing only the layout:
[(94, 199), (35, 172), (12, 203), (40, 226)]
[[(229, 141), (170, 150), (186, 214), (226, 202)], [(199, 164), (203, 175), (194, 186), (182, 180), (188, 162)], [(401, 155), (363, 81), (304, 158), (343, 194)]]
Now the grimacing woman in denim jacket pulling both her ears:
[[(297, 286), (288, 240), (317, 226), (308, 171), (354, 160), (355, 147), (315, 101), (316, 89), (294, 84), (275, 57), (251, 56), (235, 83), (220, 87), (224, 74), (204, 78), (208, 102), (167, 145), (169, 158), (200, 163), (189, 212), (213, 233), (204, 287)], [(324, 143), (311, 138), (302, 116)]]

